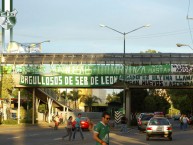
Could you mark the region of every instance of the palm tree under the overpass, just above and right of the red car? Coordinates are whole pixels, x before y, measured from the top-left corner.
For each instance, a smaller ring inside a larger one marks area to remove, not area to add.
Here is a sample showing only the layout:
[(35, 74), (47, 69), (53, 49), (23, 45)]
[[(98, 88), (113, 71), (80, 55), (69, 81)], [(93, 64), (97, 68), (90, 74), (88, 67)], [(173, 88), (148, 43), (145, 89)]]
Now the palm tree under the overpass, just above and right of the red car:
[(88, 111), (89, 112), (90, 111), (92, 112), (92, 105), (93, 105), (93, 103), (98, 103), (99, 101), (102, 102), (101, 99), (98, 98), (97, 96), (91, 96), (91, 95), (84, 96), (83, 98), (81, 98), (80, 101), (88, 106), (88, 109), (89, 109)]

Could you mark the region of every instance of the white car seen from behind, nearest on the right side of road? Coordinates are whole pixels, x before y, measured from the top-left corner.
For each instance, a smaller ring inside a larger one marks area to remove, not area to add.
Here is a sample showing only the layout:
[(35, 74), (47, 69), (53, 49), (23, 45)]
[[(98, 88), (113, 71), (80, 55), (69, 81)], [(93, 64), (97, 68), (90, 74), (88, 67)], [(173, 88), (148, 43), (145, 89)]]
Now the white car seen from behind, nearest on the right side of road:
[(146, 140), (150, 137), (166, 137), (172, 140), (172, 125), (165, 117), (152, 117), (146, 127)]

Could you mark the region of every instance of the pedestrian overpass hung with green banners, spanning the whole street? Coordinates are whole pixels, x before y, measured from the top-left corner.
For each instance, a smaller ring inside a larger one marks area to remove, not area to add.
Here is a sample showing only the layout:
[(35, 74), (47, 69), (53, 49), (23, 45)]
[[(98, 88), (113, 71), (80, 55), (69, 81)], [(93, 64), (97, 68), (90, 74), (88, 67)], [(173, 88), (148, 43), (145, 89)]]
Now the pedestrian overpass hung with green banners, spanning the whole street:
[(5, 53), (1, 66), (50, 107), (64, 106), (42, 88), (122, 88), (128, 118), (130, 88), (193, 87), (193, 53)]

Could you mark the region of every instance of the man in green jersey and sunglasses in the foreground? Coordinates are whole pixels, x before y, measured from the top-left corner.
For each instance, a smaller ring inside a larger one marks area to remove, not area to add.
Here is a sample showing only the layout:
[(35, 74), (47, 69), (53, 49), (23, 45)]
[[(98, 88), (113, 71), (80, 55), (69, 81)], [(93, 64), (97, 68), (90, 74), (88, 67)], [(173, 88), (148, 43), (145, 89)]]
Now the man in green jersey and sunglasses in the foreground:
[(103, 112), (102, 120), (94, 127), (93, 139), (96, 141), (96, 145), (109, 145), (109, 126), (110, 114)]

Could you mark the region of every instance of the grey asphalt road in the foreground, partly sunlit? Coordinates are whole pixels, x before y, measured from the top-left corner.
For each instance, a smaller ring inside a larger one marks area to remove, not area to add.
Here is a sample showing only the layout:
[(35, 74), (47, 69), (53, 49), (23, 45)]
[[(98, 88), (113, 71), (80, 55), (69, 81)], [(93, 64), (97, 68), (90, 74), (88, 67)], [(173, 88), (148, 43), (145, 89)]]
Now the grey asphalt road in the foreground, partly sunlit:
[[(173, 140), (151, 139), (145, 140), (145, 133), (141, 133), (136, 127), (129, 130), (128, 133), (122, 134), (118, 128), (114, 128), (110, 133), (110, 145), (193, 145), (193, 129), (187, 131), (180, 130), (176, 122), (173, 122)], [(65, 134), (63, 126), (59, 130), (53, 130), (52, 127), (44, 126), (0, 126), (0, 145), (94, 145), (92, 133), (84, 131), (85, 140), (81, 140), (77, 132), (75, 141), (68, 141), (67, 138), (62, 140)]]

